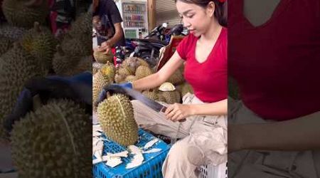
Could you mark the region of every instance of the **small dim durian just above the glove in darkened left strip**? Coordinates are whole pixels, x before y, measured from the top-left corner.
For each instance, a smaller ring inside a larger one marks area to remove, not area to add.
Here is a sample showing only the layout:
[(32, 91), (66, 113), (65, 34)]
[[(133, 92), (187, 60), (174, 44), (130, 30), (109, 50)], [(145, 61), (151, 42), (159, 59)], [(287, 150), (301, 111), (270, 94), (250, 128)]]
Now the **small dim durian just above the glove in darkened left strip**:
[(57, 52), (53, 57), (53, 70), (57, 75), (67, 75), (71, 68), (74, 68), (80, 61), (80, 56), (70, 56), (58, 45)]

